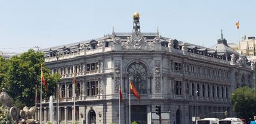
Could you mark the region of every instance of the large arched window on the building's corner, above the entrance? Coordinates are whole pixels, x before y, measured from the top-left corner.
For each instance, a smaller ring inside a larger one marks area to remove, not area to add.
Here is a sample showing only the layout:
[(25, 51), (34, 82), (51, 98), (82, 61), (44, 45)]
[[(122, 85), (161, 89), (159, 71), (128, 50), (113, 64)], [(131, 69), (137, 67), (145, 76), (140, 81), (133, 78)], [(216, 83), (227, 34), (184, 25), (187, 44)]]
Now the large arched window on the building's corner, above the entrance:
[(147, 67), (141, 62), (134, 62), (128, 67), (129, 78), (134, 82), (139, 94), (147, 93)]

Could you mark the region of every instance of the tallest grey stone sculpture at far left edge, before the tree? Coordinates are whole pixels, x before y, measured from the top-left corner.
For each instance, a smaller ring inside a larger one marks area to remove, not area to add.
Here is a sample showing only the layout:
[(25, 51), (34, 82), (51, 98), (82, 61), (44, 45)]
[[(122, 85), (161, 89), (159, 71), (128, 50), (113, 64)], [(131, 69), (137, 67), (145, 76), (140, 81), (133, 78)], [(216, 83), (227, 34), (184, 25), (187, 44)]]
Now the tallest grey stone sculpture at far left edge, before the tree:
[(12, 106), (12, 99), (6, 93), (6, 88), (2, 88), (2, 92), (0, 93), (0, 102), (2, 102), (3, 107), (11, 107)]

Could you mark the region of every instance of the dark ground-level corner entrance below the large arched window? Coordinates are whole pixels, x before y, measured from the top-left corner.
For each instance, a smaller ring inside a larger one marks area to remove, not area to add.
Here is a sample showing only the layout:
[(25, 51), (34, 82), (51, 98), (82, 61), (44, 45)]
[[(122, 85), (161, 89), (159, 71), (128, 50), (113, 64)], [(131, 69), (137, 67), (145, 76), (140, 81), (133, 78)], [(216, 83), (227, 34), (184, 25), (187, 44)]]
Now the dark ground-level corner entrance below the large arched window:
[(130, 105), (130, 123), (147, 124), (147, 105)]

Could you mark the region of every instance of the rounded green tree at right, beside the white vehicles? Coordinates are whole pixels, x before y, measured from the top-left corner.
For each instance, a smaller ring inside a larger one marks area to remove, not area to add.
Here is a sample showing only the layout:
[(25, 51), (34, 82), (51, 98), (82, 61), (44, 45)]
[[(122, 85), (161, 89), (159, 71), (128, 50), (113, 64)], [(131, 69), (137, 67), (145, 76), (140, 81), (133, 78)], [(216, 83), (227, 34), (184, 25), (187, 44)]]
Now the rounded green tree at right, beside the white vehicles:
[(231, 101), (234, 111), (239, 118), (249, 120), (249, 118), (254, 117), (256, 114), (254, 91), (248, 86), (234, 90), (234, 94), (231, 96)]

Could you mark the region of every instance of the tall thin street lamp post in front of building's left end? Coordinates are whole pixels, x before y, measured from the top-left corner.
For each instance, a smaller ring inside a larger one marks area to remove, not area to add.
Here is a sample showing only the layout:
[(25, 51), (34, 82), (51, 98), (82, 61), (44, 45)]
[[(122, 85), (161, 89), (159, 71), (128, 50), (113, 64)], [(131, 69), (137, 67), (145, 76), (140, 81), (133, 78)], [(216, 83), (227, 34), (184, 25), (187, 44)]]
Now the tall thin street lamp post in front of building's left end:
[[(56, 59), (57, 59), (57, 74), (58, 74), (58, 76), (59, 76), (59, 52), (57, 51), (57, 50), (55, 50), (55, 51), (53, 51), (53, 50), (51, 50), (50, 49), (50, 52), (52, 53), (52, 54), (54, 54), (54, 56), (56, 56)], [(59, 88), (58, 88), (58, 84), (59, 84), (59, 80), (57, 80), (57, 83), (56, 83), (56, 115), (57, 115), (57, 118), (56, 118), (56, 120), (57, 120), (57, 124), (59, 124), (59, 92), (58, 92), (58, 90), (59, 90)]]

